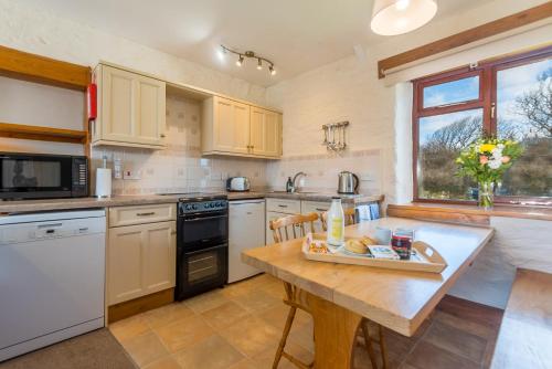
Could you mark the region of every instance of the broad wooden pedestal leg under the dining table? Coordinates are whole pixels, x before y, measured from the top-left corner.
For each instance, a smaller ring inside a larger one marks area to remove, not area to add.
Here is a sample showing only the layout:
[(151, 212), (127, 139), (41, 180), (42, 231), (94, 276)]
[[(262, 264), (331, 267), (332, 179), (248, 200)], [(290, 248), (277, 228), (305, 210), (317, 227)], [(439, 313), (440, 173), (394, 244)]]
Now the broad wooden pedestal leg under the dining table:
[(315, 323), (315, 368), (350, 369), (362, 317), (312, 294), (307, 299)]

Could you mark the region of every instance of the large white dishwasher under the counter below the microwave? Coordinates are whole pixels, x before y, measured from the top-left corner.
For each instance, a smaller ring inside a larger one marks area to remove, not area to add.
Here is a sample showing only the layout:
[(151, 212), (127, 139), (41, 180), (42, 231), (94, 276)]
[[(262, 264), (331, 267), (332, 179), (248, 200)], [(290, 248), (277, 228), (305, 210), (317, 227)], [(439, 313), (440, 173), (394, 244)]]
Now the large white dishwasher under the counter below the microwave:
[(0, 361), (104, 326), (104, 210), (0, 217)]

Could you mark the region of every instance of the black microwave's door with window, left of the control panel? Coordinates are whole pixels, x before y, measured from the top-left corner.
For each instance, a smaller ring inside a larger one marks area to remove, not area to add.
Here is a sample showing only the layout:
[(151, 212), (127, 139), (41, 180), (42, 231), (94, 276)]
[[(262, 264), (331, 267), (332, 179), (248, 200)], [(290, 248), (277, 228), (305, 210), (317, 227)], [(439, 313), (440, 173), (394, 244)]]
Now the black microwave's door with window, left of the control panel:
[(0, 154), (0, 198), (71, 197), (70, 156)]

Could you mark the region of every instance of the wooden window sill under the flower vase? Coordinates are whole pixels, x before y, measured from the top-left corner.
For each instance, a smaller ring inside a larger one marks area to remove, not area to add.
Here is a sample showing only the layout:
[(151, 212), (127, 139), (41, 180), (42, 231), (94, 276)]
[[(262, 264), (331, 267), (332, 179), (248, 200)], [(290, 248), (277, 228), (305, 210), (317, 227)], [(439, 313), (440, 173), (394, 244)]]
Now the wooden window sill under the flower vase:
[(388, 205), (388, 215), (471, 225), (489, 225), (490, 217), (552, 221), (552, 208), (495, 204), (492, 210), (484, 210), (475, 204), (412, 202)]

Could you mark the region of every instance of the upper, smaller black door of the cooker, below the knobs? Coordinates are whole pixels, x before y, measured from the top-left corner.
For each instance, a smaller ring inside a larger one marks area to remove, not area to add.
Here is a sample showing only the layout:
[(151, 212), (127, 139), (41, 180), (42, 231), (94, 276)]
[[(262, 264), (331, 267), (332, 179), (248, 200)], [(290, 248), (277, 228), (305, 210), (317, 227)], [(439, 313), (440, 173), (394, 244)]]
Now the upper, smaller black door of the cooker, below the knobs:
[(188, 251), (226, 243), (227, 211), (185, 214), (179, 219), (179, 245)]

